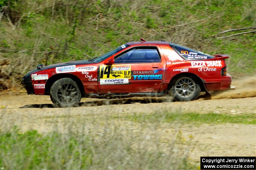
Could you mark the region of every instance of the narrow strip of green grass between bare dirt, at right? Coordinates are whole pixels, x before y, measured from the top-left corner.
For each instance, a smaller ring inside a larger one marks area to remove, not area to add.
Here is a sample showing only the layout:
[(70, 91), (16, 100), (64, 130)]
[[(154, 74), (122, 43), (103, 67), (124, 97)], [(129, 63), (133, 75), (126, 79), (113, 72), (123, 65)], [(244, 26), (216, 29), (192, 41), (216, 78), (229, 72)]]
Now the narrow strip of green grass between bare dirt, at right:
[[(116, 118), (116, 117), (115, 117)], [(125, 119), (130, 121), (150, 121), (150, 122), (177, 122), (182, 124), (256, 124), (256, 115), (224, 115), (217, 113), (155, 113), (150, 115), (134, 114), (127, 115)]]

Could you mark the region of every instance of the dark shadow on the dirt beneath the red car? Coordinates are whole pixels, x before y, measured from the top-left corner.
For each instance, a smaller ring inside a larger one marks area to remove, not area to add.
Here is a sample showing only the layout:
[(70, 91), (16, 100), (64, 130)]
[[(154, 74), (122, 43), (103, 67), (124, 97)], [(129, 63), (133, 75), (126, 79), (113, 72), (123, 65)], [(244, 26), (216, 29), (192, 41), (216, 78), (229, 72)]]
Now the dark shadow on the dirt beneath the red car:
[[(118, 105), (118, 104), (133, 104), (133, 103), (163, 103), (172, 102), (170, 97), (130, 97), (130, 98), (116, 98), (116, 99), (99, 99), (96, 101), (80, 102), (81, 106), (104, 106), (104, 105)], [(55, 104), (29, 104), (20, 107), (23, 108), (58, 108)]]

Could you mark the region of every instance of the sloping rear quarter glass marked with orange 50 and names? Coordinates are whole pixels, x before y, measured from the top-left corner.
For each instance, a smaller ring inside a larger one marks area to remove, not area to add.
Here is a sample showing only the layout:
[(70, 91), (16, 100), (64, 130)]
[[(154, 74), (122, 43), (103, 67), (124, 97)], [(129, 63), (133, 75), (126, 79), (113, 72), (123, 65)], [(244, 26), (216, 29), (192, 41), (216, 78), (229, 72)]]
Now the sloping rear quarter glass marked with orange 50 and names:
[(201, 51), (197, 51), (194, 49), (190, 49), (188, 47), (184, 47), (178, 44), (170, 43), (170, 46), (178, 52), (181, 56), (183, 56), (184, 59), (188, 60), (202, 60), (202, 59), (208, 59), (208, 58), (214, 58), (214, 56), (206, 54)]

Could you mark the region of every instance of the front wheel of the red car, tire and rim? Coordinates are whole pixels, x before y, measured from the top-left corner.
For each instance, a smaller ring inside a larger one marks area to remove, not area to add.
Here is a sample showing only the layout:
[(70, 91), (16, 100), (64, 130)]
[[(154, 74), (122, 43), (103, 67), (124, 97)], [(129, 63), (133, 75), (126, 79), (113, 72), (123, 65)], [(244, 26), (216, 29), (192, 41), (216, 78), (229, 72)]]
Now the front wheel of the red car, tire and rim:
[(54, 82), (50, 89), (50, 97), (52, 103), (59, 107), (78, 106), (82, 98), (76, 82), (70, 78), (63, 78)]

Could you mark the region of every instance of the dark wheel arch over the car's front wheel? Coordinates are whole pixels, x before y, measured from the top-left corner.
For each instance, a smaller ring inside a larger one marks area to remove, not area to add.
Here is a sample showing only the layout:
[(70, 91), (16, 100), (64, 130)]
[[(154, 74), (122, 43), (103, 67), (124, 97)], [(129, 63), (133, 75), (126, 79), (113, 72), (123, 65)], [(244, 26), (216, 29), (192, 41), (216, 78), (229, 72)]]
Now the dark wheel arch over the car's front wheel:
[(46, 82), (46, 85), (45, 85), (45, 94), (49, 94), (50, 93), (50, 89), (53, 85), (54, 82), (56, 82), (57, 80), (59, 79), (62, 79), (62, 78), (70, 78), (72, 79), (74, 82), (76, 82), (81, 94), (82, 94), (82, 97), (85, 96), (85, 91), (84, 91), (84, 87), (83, 87), (83, 82), (75, 75), (73, 74), (69, 74), (69, 73), (59, 73), (59, 74), (55, 74), (53, 76), (51, 76), (47, 82)]

